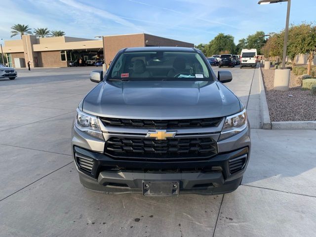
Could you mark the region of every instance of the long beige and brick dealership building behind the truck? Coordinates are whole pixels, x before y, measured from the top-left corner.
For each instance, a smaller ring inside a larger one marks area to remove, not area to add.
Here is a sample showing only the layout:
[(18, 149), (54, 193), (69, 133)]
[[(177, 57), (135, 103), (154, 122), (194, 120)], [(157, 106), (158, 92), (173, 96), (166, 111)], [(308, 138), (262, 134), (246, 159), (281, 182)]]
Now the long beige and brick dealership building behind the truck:
[[(104, 45), (103, 45), (104, 42)], [(104, 58), (109, 64), (119, 49), (145, 46), (181, 46), (194, 47), (193, 43), (152, 36), (148, 34), (130, 34), (104, 36), (103, 40), (90, 40), (74, 37), (36, 38), (23, 35), (22, 40), (5, 40), (3, 53), (6, 53), (8, 66), (26, 67), (67, 67), (72, 60), (93, 57)]]

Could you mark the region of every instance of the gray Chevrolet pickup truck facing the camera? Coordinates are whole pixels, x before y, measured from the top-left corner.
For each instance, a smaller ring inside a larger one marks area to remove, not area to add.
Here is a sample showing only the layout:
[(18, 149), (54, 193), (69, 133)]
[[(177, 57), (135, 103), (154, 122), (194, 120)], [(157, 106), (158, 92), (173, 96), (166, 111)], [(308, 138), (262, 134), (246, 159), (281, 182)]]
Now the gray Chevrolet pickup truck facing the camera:
[(196, 48), (121, 49), (72, 130), (81, 184), (105, 194), (229, 193), (250, 156), (245, 107)]

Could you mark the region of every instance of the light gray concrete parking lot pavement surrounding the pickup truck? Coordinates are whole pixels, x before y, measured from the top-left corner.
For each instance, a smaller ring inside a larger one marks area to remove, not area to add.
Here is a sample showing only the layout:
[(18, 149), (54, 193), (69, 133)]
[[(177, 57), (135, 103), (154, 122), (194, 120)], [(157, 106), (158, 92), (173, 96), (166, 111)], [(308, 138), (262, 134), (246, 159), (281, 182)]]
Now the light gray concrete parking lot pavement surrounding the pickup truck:
[(0, 80), (1, 237), (316, 235), (316, 131), (256, 129), (257, 96), (250, 88), (258, 69), (223, 69), (232, 71), (227, 86), (254, 124), (251, 160), (235, 192), (86, 191), (72, 161), (70, 132), (78, 103), (96, 85), (88, 79), (93, 69), (18, 70), (17, 79)]

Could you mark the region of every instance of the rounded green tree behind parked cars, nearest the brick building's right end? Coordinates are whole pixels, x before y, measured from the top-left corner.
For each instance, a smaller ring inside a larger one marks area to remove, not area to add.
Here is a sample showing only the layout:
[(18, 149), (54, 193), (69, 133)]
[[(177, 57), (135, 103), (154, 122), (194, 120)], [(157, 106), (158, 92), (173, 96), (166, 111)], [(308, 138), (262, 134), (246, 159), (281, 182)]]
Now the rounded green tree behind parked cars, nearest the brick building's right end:
[(208, 47), (206, 48), (206, 54), (207, 56), (211, 56), (214, 54), (220, 54), (220, 52), (223, 51), (235, 54), (236, 45), (233, 36), (220, 33), (209, 42)]

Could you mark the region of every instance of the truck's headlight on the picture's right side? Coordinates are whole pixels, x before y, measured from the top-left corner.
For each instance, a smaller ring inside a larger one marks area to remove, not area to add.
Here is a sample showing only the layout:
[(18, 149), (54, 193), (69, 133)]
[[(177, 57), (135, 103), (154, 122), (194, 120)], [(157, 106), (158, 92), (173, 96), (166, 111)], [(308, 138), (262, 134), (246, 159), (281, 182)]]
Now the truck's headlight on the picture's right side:
[(236, 135), (247, 127), (247, 113), (246, 110), (226, 117), (223, 130), (219, 137), (219, 141)]

